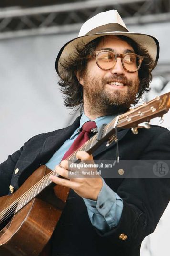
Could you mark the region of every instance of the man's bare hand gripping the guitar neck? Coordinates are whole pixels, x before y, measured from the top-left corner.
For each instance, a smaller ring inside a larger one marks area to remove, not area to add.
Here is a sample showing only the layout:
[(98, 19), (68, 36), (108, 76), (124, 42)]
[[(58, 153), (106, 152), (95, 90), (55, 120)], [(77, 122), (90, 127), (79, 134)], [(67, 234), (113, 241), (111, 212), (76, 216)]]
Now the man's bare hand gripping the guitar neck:
[[(90, 163), (94, 163), (93, 156), (89, 155), (84, 151), (78, 151), (76, 154), (77, 159), (81, 161), (90, 161)], [(91, 168), (92, 169), (92, 168)], [(95, 169), (97, 170), (97, 169)], [(90, 175), (81, 175), (81, 178), (71, 178), (68, 179), (71, 175), (69, 175), (70, 170), (68, 170), (68, 161), (63, 160), (60, 163), (60, 166), (57, 165), (55, 167), (55, 171), (57, 174), (61, 175), (63, 178), (59, 178), (53, 175), (50, 175), (50, 180), (56, 184), (61, 186), (66, 186), (73, 189), (80, 197), (88, 198), (91, 200), (97, 200), (98, 194), (103, 186), (103, 181), (100, 175), (95, 175), (95, 177), (89, 177)], [(80, 170), (81, 171), (81, 170)], [(86, 171), (88, 171), (86, 169)], [(93, 168), (94, 171), (94, 168)]]

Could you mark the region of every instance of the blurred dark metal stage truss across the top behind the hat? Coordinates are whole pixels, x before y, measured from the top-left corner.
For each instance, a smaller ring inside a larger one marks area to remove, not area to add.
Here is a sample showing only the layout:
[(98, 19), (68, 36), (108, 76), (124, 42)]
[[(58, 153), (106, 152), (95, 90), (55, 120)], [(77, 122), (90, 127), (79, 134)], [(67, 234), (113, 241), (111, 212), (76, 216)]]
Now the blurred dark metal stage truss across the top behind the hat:
[(170, 0), (83, 0), (1, 8), (0, 39), (78, 31), (88, 18), (110, 9), (117, 9), (127, 25), (170, 21)]

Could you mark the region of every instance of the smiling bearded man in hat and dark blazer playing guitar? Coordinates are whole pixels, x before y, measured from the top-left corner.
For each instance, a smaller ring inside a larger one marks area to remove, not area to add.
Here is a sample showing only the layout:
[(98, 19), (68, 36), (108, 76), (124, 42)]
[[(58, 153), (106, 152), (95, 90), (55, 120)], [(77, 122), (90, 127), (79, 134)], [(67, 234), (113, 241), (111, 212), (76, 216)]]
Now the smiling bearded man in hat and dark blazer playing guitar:
[[(50, 176), (54, 183), (71, 188), (51, 239), (51, 256), (139, 256), (142, 240), (156, 228), (169, 202), (169, 179), (71, 178), (68, 161), (61, 160), (77, 150), (68, 151), (78, 135), (85, 134), (83, 125), (88, 121), (100, 128), (138, 103), (149, 90), (158, 58), (157, 39), (128, 32), (116, 10), (92, 17), (60, 50), (56, 70), (64, 103), (80, 108), (82, 115), (67, 128), (33, 137), (0, 165), (1, 196), (8, 194), (9, 186), (17, 190), (42, 164), (60, 175)], [(166, 128), (141, 128), (138, 135), (120, 129), (117, 139), (123, 160), (170, 157)], [(108, 161), (115, 159), (116, 151), (115, 142), (108, 147), (104, 143), (93, 155), (76, 151), (75, 156), (81, 161)], [(113, 166), (113, 176), (116, 172)]]

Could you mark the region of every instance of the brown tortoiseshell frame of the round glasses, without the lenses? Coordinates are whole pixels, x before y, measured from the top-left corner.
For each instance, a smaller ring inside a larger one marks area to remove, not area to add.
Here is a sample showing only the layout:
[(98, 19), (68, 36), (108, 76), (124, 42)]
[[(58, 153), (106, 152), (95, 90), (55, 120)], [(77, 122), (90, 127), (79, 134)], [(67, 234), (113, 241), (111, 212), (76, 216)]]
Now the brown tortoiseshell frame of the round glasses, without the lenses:
[[(98, 63), (98, 61), (97, 61), (97, 57), (98, 57), (99, 53), (101, 53), (101, 52), (109, 52), (109, 53), (111, 53), (111, 54), (113, 54), (113, 55), (115, 56), (115, 63), (114, 63), (114, 65), (113, 65), (113, 67), (111, 67), (111, 68), (109, 68), (109, 69), (103, 69), (103, 68), (100, 67), (100, 65), (99, 65), (99, 63)], [(124, 66), (123, 58), (124, 58), (126, 55), (128, 55), (128, 54), (130, 54), (130, 55), (135, 55), (135, 56), (137, 56), (137, 57), (139, 58), (139, 66), (138, 66), (138, 68), (137, 68), (136, 70), (134, 70), (134, 71), (129, 71), (129, 70), (127, 70), (127, 69), (125, 68), (125, 66)], [(121, 58), (121, 62), (122, 62), (122, 66), (123, 66), (124, 70), (126, 70), (126, 71), (129, 72), (129, 73), (134, 73), (134, 72), (138, 71), (138, 70), (140, 69), (141, 64), (142, 64), (142, 61), (143, 61), (143, 59), (144, 59), (143, 56), (138, 55), (138, 54), (133, 53), (133, 52), (128, 52), (128, 53), (123, 54), (123, 53), (114, 53), (114, 52), (109, 51), (109, 50), (95, 51), (92, 56), (95, 57), (97, 66), (98, 66), (100, 69), (102, 69), (102, 70), (111, 70), (111, 69), (113, 69), (114, 66), (115, 66), (115, 64), (116, 64), (116, 62), (117, 62), (117, 57), (120, 57), (120, 58)]]

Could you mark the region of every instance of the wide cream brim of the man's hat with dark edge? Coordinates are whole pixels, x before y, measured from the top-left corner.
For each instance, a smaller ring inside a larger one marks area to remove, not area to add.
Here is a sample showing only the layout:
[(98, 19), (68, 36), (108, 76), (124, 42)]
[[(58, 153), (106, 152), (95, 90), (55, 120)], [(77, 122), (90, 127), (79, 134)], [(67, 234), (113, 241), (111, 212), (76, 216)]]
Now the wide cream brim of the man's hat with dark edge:
[[(67, 42), (59, 51), (55, 61), (55, 69), (57, 71), (57, 74), (61, 75), (62, 73), (63, 68), (60, 64), (61, 60), (66, 60), (68, 59), (69, 56), (72, 56), (74, 54), (75, 47), (79, 43), (89, 43), (98, 37), (106, 36), (106, 35), (124, 35), (131, 38), (137, 44), (146, 48), (151, 58), (153, 59), (154, 67), (156, 66), (159, 58), (159, 42), (155, 37), (147, 34), (141, 34), (141, 33), (114, 31), (114, 32), (107, 32), (107, 33), (96, 33), (92, 35), (84, 35), (81, 37), (76, 37), (70, 40), (69, 42)], [(153, 69), (154, 68), (152, 68), (150, 71), (152, 71)]]

